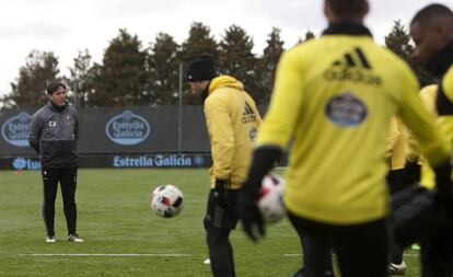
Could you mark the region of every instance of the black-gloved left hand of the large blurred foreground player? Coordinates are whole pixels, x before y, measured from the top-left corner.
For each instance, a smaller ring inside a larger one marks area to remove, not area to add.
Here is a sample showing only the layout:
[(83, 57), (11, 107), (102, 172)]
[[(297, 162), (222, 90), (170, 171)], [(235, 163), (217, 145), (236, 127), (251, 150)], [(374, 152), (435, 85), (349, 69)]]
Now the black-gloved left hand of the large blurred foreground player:
[[(239, 212), (241, 215), (242, 226), (245, 233), (253, 241), (258, 238), (255, 234), (255, 230), (258, 230), (260, 235), (265, 235), (265, 227), (262, 211), (257, 205), (259, 198), (259, 185), (245, 183), (239, 195)], [(256, 226), (256, 229), (255, 229)]]

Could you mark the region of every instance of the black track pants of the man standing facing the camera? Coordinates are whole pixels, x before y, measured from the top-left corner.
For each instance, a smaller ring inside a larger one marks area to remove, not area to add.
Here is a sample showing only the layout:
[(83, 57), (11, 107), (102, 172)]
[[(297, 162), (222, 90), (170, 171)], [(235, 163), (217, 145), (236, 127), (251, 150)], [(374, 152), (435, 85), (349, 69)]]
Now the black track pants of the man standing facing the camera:
[(47, 235), (55, 235), (55, 198), (57, 197), (58, 183), (60, 183), (61, 186), (68, 234), (76, 233), (77, 207), (74, 198), (77, 168), (43, 168), (42, 176), (44, 184), (43, 217), (47, 229)]

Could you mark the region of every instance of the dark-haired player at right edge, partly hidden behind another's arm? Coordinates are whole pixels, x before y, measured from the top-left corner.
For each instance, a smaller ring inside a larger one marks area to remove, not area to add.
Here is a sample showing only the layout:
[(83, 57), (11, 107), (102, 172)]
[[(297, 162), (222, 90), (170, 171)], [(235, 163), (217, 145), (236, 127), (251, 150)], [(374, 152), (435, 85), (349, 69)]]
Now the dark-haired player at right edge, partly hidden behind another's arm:
[[(442, 4), (421, 9), (410, 23), (410, 35), (416, 57), (439, 79), (438, 88), (427, 88), (421, 96), (431, 103), (441, 131), (453, 143), (453, 12)], [(427, 174), (426, 165), (422, 172), (421, 183), (429, 186), (433, 182), (426, 175), (432, 174)], [(445, 177), (449, 183), (435, 181), (439, 219), (430, 226), (434, 234), (421, 242), (423, 277), (453, 276), (453, 187), (451, 175)]]

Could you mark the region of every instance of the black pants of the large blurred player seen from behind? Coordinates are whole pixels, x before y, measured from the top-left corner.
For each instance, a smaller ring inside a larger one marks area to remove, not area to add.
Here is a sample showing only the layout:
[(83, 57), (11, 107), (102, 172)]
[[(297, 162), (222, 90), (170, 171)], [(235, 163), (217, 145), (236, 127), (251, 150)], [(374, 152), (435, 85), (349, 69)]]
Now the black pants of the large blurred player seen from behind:
[[(388, 231), (384, 219), (362, 224), (333, 226), (288, 212), (303, 241), (304, 277), (324, 276), (334, 250), (342, 277), (386, 277)], [(365, 274), (364, 274), (365, 273)]]

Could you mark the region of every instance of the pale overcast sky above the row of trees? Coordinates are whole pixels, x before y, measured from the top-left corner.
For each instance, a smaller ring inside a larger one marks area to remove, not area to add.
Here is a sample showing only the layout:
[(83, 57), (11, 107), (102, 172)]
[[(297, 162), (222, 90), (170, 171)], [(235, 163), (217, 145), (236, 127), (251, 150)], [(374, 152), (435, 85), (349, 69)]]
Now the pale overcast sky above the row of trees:
[[(316, 35), (326, 26), (322, 2), (313, 0), (7, 0), (0, 9), (0, 95), (11, 91), (20, 67), (33, 49), (53, 51), (62, 73), (73, 64), (79, 50), (89, 49), (100, 62), (119, 28), (138, 35), (148, 47), (159, 32), (176, 43), (188, 37), (193, 22), (210, 26), (217, 39), (236, 24), (254, 42), (254, 53), (263, 54), (272, 26), (281, 28), (288, 48), (307, 30)], [(397, 19), (406, 25), (414, 13), (429, 0), (374, 0), (367, 24), (384, 44)], [(450, 7), (453, 0), (440, 0)]]

